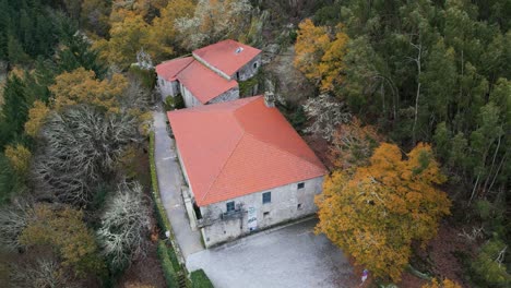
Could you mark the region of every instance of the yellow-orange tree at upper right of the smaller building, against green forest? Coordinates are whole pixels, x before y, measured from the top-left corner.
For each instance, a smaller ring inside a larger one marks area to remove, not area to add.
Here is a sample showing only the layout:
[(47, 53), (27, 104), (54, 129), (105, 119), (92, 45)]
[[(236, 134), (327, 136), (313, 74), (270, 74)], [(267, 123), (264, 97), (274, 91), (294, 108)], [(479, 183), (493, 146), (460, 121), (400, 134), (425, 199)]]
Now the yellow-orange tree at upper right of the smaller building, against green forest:
[(295, 67), (322, 92), (333, 91), (334, 85), (342, 82), (343, 58), (349, 37), (341, 24), (336, 26), (335, 35), (331, 36), (329, 28), (316, 26), (310, 19), (301, 22), (298, 28)]

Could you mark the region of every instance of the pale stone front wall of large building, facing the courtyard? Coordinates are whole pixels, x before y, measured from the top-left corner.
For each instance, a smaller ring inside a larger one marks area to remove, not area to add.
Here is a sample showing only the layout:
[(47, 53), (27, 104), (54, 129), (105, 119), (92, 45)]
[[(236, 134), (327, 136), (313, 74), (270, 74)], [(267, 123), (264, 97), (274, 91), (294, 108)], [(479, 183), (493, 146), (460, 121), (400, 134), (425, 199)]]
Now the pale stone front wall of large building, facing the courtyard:
[[(249, 209), (254, 209), (255, 230), (316, 213), (318, 208), (313, 202), (314, 195), (322, 191), (323, 177), (302, 182), (302, 189), (298, 189), (299, 182), (290, 183), (201, 207), (201, 214), (205, 223), (209, 223), (201, 229), (205, 245), (209, 248), (252, 232), (248, 226)], [(271, 192), (271, 203), (262, 203), (264, 192)], [(230, 201), (241, 212), (235, 213), (233, 217), (222, 217)]]

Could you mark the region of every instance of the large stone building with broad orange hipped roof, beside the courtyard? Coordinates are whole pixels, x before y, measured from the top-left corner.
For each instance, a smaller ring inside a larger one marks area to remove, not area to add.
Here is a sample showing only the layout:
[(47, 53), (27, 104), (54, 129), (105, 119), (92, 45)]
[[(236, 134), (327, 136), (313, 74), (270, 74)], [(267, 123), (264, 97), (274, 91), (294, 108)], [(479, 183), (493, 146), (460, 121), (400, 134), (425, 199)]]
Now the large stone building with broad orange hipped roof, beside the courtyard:
[(326, 170), (271, 97), (175, 110), (168, 119), (190, 225), (206, 247), (316, 213)]

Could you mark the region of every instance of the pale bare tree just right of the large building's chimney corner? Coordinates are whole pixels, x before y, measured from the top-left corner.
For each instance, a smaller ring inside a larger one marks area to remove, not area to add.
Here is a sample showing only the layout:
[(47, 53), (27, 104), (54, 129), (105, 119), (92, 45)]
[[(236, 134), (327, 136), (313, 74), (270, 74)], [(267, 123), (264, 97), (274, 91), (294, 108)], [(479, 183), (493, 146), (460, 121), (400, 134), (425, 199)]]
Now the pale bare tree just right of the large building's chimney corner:
[(328, 141), (332, 140), (333, 132), (338, 124), (347, 123), (352, 119), (346, 106), (326, 94), (308, 99), (304, 105), (304, 111), (311, 120), (310, 125), (304, 132), (319, 134)]

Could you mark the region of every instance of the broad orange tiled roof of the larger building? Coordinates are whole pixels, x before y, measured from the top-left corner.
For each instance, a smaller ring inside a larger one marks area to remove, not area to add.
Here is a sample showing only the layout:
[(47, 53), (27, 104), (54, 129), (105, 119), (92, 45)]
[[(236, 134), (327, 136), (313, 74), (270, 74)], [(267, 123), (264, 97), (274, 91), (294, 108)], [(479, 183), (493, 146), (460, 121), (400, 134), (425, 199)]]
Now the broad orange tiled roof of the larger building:
[(262, 96), (168, 112), (199, 206), (326, 173)]

